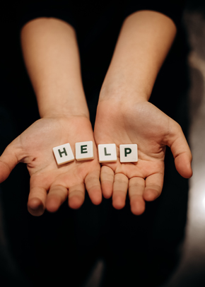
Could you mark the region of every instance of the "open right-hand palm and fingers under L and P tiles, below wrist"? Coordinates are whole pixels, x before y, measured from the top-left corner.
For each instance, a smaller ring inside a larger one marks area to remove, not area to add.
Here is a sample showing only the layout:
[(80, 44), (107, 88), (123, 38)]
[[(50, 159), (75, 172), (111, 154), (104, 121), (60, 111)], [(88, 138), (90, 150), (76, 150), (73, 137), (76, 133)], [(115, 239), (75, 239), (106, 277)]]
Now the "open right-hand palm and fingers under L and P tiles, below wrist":
[[(163, 188), (165, 148), (170, 146), (182, 177), (192, 176), (192, 154), (177, 122), (146, 100), (100, 100), (95, 120), (96, 144), (116, 144), (117, 162), (102, 163), (100, 181), (105, 198), (116, 209), (125, 205), (127, 189), (132, 213), (145, 210), (145, 201)], [(119, 144), (138, 145), (138, 163), (120, 163)]]

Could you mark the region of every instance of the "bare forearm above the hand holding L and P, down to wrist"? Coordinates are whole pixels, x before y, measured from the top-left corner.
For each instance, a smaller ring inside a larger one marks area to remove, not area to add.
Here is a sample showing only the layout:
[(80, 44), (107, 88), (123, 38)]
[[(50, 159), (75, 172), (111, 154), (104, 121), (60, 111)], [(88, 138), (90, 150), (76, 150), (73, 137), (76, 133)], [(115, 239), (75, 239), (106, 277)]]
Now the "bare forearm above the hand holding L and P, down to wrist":
[(100, 100), (124, 96), (148, 100), (175, 33), (175, 24), (161, 13), (131, 14), (122, 25)]

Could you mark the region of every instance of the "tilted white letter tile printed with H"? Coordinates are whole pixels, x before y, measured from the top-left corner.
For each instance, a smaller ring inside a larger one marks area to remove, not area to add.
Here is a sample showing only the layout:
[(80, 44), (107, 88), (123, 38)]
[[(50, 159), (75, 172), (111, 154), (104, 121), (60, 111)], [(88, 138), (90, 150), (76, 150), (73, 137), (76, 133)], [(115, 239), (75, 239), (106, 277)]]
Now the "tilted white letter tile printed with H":
[(62, 144), (53, 148), (54, 156), (57, 160), (57, 165), (63, 165), (74, 160), (74, 153), (71, 150), (70, 144)]

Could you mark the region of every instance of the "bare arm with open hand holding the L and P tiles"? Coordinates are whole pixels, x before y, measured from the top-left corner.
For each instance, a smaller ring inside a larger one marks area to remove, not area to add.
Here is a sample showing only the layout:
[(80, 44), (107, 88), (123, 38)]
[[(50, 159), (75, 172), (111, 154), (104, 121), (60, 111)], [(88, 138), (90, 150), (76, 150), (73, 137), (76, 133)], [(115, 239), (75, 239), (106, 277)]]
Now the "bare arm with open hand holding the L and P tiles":
[[(192, 176), (192, 154), (177, 122), (148, 102), (158, 71), (175, 38), (175, 23), (154, 11), (131, 14), (122, 25), (102, 84), (95, 120), (96, 144), (117, 146), (117, 163), (103, 163), (102, 194), (122, 209), (129, 192), (132, 213), (163, 188), (165, 148), (182, 177)], [(138, 144), (138, 163), (119, 162), (119, 144)]]

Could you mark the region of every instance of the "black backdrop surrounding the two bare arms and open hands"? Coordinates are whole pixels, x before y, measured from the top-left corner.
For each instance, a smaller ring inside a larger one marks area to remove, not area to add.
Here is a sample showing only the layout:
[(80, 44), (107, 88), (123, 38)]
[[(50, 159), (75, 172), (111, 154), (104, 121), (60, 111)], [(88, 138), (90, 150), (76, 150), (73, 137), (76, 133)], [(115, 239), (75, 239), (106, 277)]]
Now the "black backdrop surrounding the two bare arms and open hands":
[[(187, 7), (194, 11), (203, 7), (201, 5), (189, 1)], [(21, 54), (21, 7), (17, 1), (4, 2), (1, 6), (1, 153), (39, 118)], [(112, 24), (112, 19), (110, 21)], [(95, 37), (91, 24), (87, 27), (89, 33), (78, 31), (83, 84), (92, 122), (100, 85), (120, 28), (120, 22), (118, 25), (114, 22), (113, 30), (107, 26), (99, 32), (101, 37)], [(107, 16), (102, 18), (102, 23), (107, 23)], [(109, 43), (110, 48), (102, 49), (103, 42)], [(189, 127), (188, 53), (186, 30), (182, 25), (151, 95), (151, 102), (177, 120), (185, 134)], [(165, 162), (163, 194), (146, 205), (142, 216), (131, 214), (129, 201), (122, 211), (116, 211), (112, 209), (111, 200), (104, 199), (100, 206), (93, 206), (86, 197), (78, 211), (72, 211), (65, 203), (57, 213), (45, 212), (40, 218), (27, 211), (29, 175), (20, 163), (0, 186), (1, 286), (62, 286), (65, 280), (70, 286), (81, 284), (98, 258), (107, 264), (105, 286), (114, 283), (132, 286), (136, 276), (139, 286), (159, 286), (177, 267), (178, 247), (187, 218), (188, 182), (175, 171), (170, 151)], [(120, 256), (119, 249), (122, 250)], [(121, 282), (116, 279), (119, 274), (123, 274)]]

